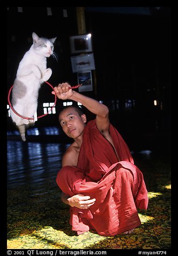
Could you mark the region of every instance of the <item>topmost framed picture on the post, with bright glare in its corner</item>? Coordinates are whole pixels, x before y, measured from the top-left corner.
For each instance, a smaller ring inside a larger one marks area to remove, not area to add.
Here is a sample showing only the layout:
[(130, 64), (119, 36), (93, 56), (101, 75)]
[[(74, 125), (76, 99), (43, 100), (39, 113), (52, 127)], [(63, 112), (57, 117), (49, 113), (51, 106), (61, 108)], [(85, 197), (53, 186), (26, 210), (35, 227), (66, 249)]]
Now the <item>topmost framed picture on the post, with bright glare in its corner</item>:
[(70, 37), (70, 49), (71, 54), (92, 52), (92, 35), (73, 35)]

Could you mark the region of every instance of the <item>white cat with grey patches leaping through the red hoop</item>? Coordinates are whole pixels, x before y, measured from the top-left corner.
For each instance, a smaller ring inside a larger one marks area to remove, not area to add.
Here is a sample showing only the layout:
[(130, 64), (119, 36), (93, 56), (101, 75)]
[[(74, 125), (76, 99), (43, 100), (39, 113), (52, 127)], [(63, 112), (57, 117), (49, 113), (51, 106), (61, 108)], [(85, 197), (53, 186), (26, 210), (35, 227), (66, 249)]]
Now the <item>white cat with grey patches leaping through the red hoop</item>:
[[(33, 118), (38, 107), (39, 89), (43, 82), (47, 81), (52, 70), (47, 68), (47, 58), (54, 53), (54, 42), (56, 38), (39, 38), (32, 33), (33, 45), (25, 53), (19, 63), (16, 79), (12, 89), (12, 106), (23, 117)], [(56, 56), (55, 56), (56, 58)], [(26, 128), (34, 124), (35, 120), (19, 117), (10, 109), (13, 122), (16, 123), (21, 139), (25, 138)]]

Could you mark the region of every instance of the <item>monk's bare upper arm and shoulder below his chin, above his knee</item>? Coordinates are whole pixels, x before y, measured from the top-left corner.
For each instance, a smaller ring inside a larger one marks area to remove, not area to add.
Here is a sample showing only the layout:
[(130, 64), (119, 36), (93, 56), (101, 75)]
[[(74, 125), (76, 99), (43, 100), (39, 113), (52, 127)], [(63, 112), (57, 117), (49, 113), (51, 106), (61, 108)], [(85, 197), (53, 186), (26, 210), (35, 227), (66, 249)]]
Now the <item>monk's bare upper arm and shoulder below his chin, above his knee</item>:
[(78, 161), (78, 154), (79, 154), (79, 147), (74, 142), (72, 143), (65, 151), (63, 158), (62, 158), (62, 167), (69, 165), (69, 166), (77, 166)]

